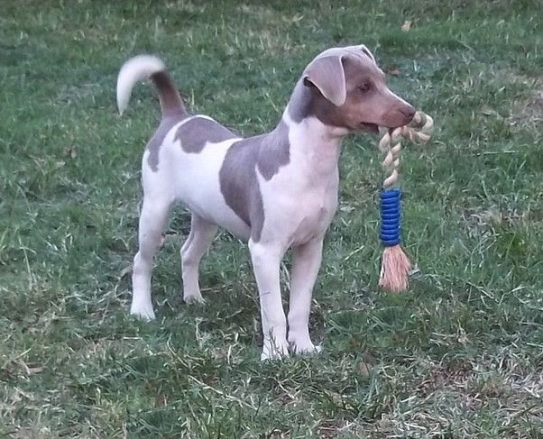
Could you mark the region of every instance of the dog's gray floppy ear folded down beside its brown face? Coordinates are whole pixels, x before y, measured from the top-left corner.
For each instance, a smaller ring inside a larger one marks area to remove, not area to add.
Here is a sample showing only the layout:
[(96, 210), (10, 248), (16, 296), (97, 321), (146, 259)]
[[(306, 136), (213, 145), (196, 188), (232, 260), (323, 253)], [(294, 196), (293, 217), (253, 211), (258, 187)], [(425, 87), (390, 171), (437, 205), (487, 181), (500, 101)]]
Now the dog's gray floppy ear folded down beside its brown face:
[(318, 88), (322, 96), (336, 106), (344, 105), (347, 91), (342, 57), (331, 55), (314, 59), (304, 72), (304, 85)]

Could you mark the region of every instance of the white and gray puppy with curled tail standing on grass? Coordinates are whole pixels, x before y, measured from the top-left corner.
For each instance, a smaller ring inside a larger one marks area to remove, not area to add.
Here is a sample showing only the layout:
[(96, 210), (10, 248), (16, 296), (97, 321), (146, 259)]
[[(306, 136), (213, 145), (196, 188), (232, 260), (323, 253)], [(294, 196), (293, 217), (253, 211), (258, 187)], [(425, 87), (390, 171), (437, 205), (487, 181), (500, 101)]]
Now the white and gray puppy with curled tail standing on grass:
[[(262, 360), (319, 352), (308, 319), (323, 238), (336, 212), (338, 157), (348, 133), (410, 123), (415, 109), (386, 86), (364, 45), (323, 51), (303, 70), (270, 133), (243, 138), (207, 115), (185, 109), (164, 62), (127, 60), (117, 78), (126, 109), (136, 82), (150, 78), (161, 123), (143, 153), (139, 250), (133, 260), (131, 313), (154, 318), (151, 271), (170, 207), (191, 212), (181, 247), (183, 298), (203, 301), (198, 265), (221, 226), (248, 242), (262, 316)], [(280, 264), (292, 250), (288, 316), (281, 304)]]

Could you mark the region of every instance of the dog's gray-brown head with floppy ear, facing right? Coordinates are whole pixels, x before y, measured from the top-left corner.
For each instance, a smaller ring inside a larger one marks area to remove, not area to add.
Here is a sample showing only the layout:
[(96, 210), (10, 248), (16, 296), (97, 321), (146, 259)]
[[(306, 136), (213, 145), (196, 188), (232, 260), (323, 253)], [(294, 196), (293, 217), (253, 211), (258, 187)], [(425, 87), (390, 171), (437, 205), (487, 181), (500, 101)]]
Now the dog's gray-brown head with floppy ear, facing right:
[(378, 127), (410, 123), (415, 109), (391, 92), (372, 52), (364, 45), (329, 49), (304, 70), (309, 113), (347, 131), (378, 133)]

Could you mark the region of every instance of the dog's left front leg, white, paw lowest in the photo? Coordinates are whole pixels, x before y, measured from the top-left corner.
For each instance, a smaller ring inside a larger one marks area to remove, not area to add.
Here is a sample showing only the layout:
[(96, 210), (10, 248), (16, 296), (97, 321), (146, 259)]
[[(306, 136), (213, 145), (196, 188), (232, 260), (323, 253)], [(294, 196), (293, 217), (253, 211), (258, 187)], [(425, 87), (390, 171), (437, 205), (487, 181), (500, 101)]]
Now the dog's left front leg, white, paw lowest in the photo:
[(281, 358), (289, 353), (287, 319), (281, 303), (279, 270), (285, 253), (276, 244), (249, 241), (254, 277), (260, 296), (264, 344), (261, 360)]

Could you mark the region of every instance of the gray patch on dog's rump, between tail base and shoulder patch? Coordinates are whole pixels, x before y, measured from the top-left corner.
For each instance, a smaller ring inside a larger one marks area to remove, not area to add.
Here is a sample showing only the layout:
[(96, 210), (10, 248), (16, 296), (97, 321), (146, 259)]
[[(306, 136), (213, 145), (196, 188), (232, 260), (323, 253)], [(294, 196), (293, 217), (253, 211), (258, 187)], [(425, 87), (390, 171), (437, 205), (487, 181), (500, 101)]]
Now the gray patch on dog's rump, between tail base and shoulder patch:
[(193, 154), (202, 151), (207, 142), (223, 142), (235, 137), (239, 136), (220, 123), (198, 116), (180, 125), (175, 133), (175, 140), (181, 142), (183, 151)]

